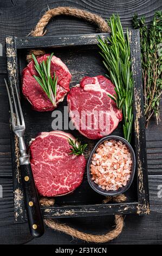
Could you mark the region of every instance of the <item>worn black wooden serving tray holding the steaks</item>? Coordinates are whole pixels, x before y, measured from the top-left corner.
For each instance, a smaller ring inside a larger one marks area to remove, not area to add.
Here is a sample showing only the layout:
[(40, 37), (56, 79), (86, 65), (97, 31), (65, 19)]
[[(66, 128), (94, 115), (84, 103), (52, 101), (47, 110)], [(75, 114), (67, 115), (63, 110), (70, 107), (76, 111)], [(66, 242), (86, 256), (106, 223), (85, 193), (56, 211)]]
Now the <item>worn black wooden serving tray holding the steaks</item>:
[[(99, 34), (101, 38), (109, 34)], [(69, 36), (43, 36), (43, 37), (7, 37), (7, 65), (8, 78), (13, 86), (17, 83), (20, 92), (21, 104), (25, 119), (26, 131), (25, 142), (28, 145), (31, 138), (36, 137), (41, 131), (51, 131), (53, 117), (52, 112), (36, 112), (21, 94), (21, 72), (27, 65), (26, 56), (33, 48), (43, 48), (46, 52), (54, 52), (57, 57), (68, 66), (72, 73), (70, 87), (75, 86), (83, 76), (105, 75), (106, 70), (102, 64), (99, 47), (97, 44), (98, 34), (69, 35)], [(127, 200), (124, 203), (102, 204), (103, 196), (90, 188), (87, 175), (85, 174), (82, 184), (71, 194), (56, 197), (55, 205), (42, 207), (44, 218), (61, 218), (77, 216), (103, 216), (114, 214), (149, 214), (147, 159), (144, 121), (144, 102), (142, 93), (141, 63), (140, 63), (140, 40), (139, 31), (129, 31), (131, 45), (132, 71), (134, 79), (134, 131), (132, 146), (135, 150), (137, 168), (133, 184), (125, 193)], [(62, 111), (67, 105), (66, 99), (57, 107)], [(11, 127), (11, 123), (10, 123)], [(23, 204), (23, 191), (18, 163), (18, 142), (11, 131), (12, 170), (14, 182), (15, 222), (25, 221)], [(77, 130), (66, 132), (73, 133), (83, 143), (88, 144), (86, 157), (90, 154), (96, 141), (83, 137)], [(122, 135), (122, 127), (112, 133)]]

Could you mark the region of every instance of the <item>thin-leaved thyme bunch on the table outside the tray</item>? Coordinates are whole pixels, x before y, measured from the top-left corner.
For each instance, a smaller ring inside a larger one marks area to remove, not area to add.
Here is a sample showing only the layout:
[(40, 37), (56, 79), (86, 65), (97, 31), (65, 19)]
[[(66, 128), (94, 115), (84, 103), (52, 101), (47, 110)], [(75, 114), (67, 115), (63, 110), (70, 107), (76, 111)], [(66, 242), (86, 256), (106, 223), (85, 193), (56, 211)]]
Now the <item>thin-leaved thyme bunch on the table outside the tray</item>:
[(140, 30), (142, 77), (144, 86), (144, 103), (146, 127), (155, 115), (159, 119), (159, 103), (162, 94), (162, 11), (157, 11), (150, 28), (145, 17), (138, 19), (134, 14), (133, 27)]

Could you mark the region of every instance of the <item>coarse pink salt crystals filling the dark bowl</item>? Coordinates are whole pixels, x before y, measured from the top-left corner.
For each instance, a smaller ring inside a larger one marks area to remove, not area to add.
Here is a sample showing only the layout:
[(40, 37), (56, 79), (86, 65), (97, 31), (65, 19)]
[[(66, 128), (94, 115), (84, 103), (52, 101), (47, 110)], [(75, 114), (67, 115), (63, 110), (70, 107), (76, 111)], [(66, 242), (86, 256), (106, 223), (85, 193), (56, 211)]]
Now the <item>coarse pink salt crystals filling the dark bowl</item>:
[(131, 154), (120, 141), (110, 140), (101, 144), (93, 154), (90, 164), (92, 180), (103, 190), (118, 190), (126, 186), (132, 167)]

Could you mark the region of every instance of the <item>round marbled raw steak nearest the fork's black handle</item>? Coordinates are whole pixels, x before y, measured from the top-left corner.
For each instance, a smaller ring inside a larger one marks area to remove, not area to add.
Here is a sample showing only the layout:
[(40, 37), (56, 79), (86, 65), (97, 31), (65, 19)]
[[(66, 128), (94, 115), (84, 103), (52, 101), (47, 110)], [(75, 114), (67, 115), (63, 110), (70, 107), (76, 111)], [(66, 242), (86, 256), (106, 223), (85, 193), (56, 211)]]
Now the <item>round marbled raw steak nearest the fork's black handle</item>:
[(30, 162), (38, 193), (42, 196), (61, 196), (78, 187), (85, 173), (83, 155), (69, 155), (68, 138), (62, 131), (41, 132), (30, 144)]

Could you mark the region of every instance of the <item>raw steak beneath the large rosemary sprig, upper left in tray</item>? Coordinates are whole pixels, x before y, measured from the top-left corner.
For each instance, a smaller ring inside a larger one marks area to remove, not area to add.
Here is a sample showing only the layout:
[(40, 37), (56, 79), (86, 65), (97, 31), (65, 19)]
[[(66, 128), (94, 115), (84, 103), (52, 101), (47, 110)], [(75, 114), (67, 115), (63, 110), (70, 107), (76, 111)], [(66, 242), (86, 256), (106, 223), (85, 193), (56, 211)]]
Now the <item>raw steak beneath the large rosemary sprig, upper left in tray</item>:
[[(50, 54), (45, 54), (37, 58), (38, 63), (43, 60), (47, 60)], [(22, 72), (22, 93), (31, 103), (36, 111), (53, 111), (55, 108), (53, 103), (49, 100), (46, 93), (41, 88), (40, 84), (37, 83), (33, 75), (38, 76), (35, 69), (34, 60), (28, 64), (27, 68), (23, 69)], [(56, 94), (56, 104), (63, 101), (64, 96), (69, 92), (69, 83), (72, 78), (67, 66), (61, 61), (61, 59), (53, 56), (51, 59), (50, 72), (53, 77), (54, 71), (57, 80), (57, 94)]]

